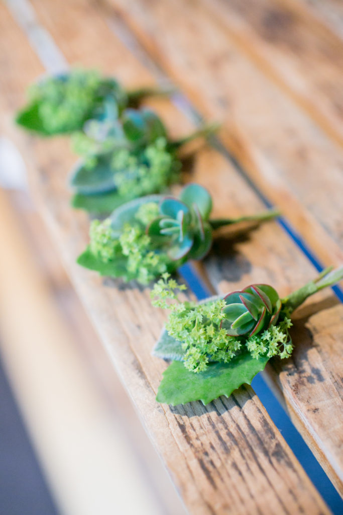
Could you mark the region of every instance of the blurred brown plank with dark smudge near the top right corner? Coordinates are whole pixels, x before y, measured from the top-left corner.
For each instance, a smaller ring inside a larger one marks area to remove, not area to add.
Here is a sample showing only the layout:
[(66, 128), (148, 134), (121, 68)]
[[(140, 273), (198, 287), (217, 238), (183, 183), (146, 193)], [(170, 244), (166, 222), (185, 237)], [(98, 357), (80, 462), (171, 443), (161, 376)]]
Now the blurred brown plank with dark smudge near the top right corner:
[(343, 41), (292, 0), (202, 0), (246, 54), (343, 146)]

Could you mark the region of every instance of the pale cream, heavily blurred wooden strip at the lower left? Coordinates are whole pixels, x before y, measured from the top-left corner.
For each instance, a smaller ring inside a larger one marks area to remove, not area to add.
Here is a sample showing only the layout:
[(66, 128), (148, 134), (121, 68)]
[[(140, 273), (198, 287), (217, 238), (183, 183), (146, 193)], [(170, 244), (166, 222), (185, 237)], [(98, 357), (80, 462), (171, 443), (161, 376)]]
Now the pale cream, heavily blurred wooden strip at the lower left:
[(94, 384), (1, 189), (0, 214), (6, 242), (0, 256), (1, 354), (58, 509), (65, 515), (183, 513), (180, 504), (173, 511), (157, 501), (148, 471), (141, 470), (114, 404), (110, 410)]

